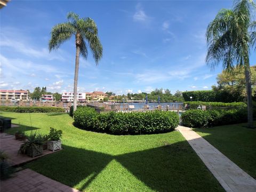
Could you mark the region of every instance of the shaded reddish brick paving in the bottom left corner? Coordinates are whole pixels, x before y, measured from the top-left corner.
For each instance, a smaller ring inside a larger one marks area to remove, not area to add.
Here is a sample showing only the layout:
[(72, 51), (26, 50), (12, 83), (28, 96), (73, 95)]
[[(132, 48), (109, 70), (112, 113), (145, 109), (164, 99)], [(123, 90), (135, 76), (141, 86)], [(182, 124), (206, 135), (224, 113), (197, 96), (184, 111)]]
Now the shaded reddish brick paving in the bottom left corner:
[(15, 173), (13, 178), (2, 181), (3, 192), (79, 192), (30, 169)]

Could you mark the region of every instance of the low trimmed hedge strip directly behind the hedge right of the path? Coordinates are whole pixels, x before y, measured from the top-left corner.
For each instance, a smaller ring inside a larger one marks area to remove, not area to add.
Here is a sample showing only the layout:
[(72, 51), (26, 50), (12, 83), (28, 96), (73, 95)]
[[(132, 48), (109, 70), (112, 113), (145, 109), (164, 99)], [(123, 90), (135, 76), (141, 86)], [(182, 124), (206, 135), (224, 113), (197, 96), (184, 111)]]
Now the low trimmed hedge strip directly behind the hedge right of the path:
[(184, 104), (189, 104), (190, 109), (196, 109), (198, 105), (204, 105), (207, 109), (211, 108), (245, 108), (247, 107), (246, 103), (244, 102), (231, 102), (231, 103), (224, 103), (224, 102), (204, 102), (204, 101), (186, 101)]

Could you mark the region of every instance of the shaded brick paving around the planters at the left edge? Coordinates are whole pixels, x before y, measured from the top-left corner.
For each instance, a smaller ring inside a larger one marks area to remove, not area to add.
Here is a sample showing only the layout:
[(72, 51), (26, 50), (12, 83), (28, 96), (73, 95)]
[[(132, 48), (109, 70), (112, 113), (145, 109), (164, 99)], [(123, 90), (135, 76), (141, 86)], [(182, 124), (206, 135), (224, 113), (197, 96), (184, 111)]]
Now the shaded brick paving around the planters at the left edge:
[(44, 155), (52, 154), (57, 151), (50, 151), (50, 150), (43, 150), (43, 155), (39, 155), (35, 158), (29, 157), (24, 154), (18, 154), (20, 145), (22, 144), (22, 141), (15, 140), (14, 135), (9, 135), (6, 133), (0, 133), (0, 146), (1, 150), (4, 151), (4, 153), (7, 154), (8, 159), (7, 161), (10, 163), (10, 165), (20, 165), (29, 161), (33, 161), (36, 158), (42, 157)]

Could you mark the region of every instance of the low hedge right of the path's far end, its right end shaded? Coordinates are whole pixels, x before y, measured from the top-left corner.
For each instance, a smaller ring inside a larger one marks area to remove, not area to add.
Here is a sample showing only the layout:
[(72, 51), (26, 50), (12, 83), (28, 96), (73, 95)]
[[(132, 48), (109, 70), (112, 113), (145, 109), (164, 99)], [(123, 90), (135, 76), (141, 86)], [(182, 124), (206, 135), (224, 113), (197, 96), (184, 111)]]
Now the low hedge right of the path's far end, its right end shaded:
[(190, 109), (181, 115), (182, 123), (188, 127), (209, 127), (243, 123), (247, 121), (246, 108), (229, 110), (198, 110)]

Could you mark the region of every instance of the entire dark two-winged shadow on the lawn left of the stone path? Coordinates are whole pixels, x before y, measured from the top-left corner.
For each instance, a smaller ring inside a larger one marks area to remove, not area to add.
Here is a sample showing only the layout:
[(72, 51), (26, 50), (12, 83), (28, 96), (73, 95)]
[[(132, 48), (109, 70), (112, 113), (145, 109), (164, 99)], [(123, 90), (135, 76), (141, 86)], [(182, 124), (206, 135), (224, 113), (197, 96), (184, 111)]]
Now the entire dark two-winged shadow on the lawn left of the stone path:
[(63, 145), (59, 153), (38, 159), (28, 167), (83, 191), (114, 159), (155, 191), (221, 189), (186, 141), (117, 156)]

